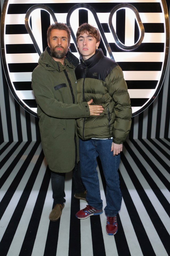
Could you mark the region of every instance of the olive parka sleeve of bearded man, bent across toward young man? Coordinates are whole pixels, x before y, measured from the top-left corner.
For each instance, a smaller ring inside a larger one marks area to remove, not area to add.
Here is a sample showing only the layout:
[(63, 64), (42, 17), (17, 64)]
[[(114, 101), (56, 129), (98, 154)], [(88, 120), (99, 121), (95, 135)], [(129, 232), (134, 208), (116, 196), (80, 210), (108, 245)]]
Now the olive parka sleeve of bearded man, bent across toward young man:
[(32, 72), (32, 89), (35, 100), (46, 115), (56, 118), (80, 118), (89, 117), (90, 110), (87, 102), (79, 104), (67, 104), (54, 99), (52, 90), (48, 87), (50, 80), (45, 76), (44, 70), (35, 69)]

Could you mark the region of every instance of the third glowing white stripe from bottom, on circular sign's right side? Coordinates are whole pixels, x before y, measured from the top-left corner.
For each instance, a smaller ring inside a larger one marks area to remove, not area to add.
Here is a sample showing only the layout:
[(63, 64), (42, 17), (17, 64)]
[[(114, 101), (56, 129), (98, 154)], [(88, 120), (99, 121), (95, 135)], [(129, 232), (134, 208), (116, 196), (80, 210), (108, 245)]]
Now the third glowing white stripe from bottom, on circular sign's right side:
[(125, 80), (159, 80), (162, 71), (124, 71)]

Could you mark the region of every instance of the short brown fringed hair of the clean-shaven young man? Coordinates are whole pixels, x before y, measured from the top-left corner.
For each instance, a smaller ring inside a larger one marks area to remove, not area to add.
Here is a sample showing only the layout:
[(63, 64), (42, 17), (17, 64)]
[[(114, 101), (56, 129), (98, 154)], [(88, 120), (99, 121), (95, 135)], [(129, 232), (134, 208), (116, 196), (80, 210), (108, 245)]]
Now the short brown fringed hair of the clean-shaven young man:
[(96, 43), (100, 42), (100, 33), (99, 30), (96, 29), (96, 27), (91, 26), (88, 23), (83, 23), (82, 25), (79, 26), (77, 33), (76, 33), (76, 41), (78, 42), (78, 38), (82, 34), (89, 34), (92, 35), (94, 38), (96, 38)]

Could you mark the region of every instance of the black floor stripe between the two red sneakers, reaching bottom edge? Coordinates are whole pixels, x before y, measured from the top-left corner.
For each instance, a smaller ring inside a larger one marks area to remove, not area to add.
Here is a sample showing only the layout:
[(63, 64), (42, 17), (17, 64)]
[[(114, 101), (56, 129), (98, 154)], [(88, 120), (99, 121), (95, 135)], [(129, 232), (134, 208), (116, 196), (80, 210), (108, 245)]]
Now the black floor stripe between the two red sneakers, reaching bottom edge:
[(90, 216), (90, 224), (91, 224), (93, 256), (106, 256), (100, 215)]

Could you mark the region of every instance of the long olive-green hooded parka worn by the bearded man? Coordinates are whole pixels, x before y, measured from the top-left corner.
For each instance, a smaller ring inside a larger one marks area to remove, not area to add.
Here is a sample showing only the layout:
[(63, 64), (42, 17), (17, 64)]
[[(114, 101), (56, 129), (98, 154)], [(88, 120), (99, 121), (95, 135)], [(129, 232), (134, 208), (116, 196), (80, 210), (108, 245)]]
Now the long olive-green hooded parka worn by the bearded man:
[(44, 155), (50, 170), (61, 173), (73, 170), (75, 165), (75, 118), (90, 116), (87, 102), (76, 104), (74, 70), (79, 60), (68, 52), (64, 62), (63, 66), (54, 61), (47, 47), (32, 72)]

